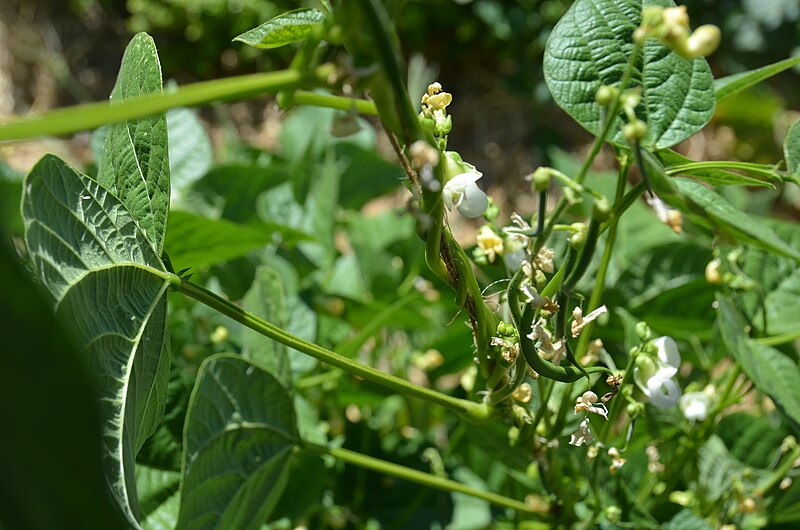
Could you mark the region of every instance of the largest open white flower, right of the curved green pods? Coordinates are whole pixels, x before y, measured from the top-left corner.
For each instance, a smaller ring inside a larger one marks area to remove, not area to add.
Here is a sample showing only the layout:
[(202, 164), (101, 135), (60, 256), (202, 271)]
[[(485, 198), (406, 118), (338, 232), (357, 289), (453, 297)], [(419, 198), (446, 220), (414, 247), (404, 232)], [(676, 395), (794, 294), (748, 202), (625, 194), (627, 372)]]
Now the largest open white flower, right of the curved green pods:
[(681, 364), (678, 345), (671, 337), (658, 337), (651, 344), (657, 355), (655, 358), (643, 355), (637, 359), (634, 381), (654, 406), (674, 407), (681, 397), (681, 389), (672, 379)]

